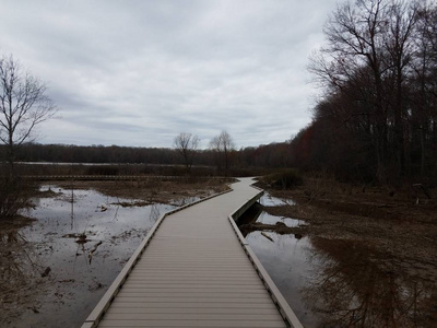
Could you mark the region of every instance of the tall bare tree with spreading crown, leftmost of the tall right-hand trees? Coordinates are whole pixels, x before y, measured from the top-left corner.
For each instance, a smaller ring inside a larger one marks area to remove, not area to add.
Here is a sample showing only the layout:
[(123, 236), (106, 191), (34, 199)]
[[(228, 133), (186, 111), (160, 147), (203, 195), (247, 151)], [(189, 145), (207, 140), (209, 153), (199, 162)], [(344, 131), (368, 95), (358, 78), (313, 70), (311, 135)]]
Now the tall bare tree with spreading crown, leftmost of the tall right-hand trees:
[(387, 33), (387, 1), (357, 0), (345, 2), (334, 11), (324, 26), (328, 47), (311, 59), (309, 67), (323, 84), (343, 92), (357, 71), (367, 67), (373, 75), (374, 96), (369, 115), (375, 122), (375, 157), (380, 179), (386, 179), (387, 166), (387, 110), (385, 107), (383, 75), (388, 70), (383, 51)]

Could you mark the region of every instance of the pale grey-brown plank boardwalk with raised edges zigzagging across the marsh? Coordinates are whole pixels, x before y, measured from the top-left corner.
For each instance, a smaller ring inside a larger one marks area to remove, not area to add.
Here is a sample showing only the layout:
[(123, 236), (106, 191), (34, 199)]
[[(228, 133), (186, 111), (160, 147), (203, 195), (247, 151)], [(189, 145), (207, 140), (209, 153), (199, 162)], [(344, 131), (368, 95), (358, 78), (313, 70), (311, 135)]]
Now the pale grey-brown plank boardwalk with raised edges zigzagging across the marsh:
[(251, 183), (161, 218), (82, 328), (302, 327), (234, 223)]

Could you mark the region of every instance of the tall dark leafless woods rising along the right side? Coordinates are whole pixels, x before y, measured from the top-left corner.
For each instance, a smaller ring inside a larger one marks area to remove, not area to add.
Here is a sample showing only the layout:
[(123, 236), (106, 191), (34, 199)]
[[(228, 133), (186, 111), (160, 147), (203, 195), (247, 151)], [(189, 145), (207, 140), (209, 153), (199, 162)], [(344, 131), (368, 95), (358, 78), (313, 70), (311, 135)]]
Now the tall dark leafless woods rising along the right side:
[(324, 95), (291, 142), (293, 164), (355, 180), (436, 181), (436, 3), (349, 1), (324, 34), (309, 66)]

